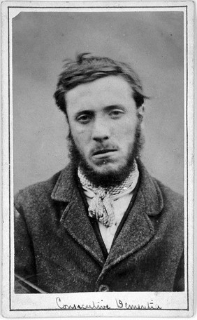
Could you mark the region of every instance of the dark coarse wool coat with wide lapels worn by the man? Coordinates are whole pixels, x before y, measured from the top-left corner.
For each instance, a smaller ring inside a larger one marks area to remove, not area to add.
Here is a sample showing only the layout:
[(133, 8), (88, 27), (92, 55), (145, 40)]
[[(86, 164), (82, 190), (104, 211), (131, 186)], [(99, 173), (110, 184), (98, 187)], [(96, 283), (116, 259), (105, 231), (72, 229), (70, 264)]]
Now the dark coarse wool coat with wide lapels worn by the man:
[(105, 260), (69, 165), (15, 197), (15, 272), (48, 293), (184, 291), (182, 196), (139, 165), (140, 186)]

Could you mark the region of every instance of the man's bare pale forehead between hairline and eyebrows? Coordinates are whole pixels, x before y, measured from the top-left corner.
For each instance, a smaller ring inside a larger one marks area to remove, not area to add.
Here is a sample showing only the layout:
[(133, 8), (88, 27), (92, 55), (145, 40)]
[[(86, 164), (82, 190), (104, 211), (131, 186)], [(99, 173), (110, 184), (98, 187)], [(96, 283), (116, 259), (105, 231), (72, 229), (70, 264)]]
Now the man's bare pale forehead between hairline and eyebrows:
[(71, 89), (66, 93), (66, 102), (67, 107), (126, 103), (133, 100), (132, 93), (131, 86), (122, 76), (106, 76)]

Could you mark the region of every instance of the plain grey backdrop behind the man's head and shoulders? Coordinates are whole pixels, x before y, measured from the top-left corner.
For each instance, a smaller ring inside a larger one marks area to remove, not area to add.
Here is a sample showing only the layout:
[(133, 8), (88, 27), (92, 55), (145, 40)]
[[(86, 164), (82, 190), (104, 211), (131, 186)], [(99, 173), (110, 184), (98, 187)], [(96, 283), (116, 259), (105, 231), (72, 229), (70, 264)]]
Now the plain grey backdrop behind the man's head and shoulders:
[(149, 173), (184, 191), (184, 36), (181, 12), (32, 12), (13, 19), (14, 190), (68, 164), (64, 114), (53, 94), (66, 58), (89, 52), (129, 62), (146, 95)]

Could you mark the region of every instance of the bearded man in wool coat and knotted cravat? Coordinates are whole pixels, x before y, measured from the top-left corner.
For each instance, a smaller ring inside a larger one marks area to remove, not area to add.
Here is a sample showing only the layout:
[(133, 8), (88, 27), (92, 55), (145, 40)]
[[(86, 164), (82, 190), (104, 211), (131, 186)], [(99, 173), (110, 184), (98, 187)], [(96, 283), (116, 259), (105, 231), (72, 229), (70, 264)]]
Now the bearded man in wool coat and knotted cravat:
[(139, 159), (137, 74), (85, 53), (66, 62), (54, 98), (71, 163), (15, 197), (17, 279), (47, 293), (184, 291), (182, 196)]

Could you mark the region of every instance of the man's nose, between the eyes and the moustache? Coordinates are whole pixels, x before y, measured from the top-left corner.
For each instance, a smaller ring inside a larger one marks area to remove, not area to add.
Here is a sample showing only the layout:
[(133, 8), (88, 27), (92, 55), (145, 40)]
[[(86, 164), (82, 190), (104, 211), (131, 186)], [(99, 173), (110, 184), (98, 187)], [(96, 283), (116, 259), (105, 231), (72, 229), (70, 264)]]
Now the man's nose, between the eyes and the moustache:
[(108, 121), (105, 121), (103, 116), (98, 116), (94, 120), (94, 126), (92, 128), (92, 139), (101, 142), (110, 138), (110, 128)]

